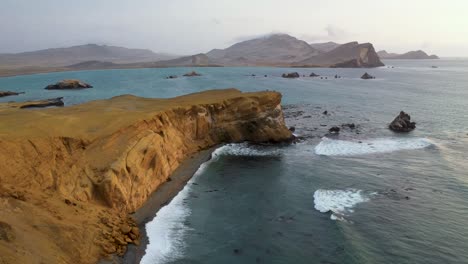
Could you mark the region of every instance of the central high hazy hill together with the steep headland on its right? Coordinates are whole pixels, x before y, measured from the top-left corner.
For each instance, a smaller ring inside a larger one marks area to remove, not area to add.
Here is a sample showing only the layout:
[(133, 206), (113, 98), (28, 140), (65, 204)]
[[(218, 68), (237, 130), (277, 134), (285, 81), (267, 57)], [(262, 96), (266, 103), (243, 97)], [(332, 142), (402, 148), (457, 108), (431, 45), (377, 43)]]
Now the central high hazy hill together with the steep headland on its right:
[[(204, 55), (204, 56), (203, 56)], [(309, 45), (287, 34), (275, 34), (236, 43), (226, 49), (214, 49), (175, 60), (160, 61), (159, 66), (306, 66), (306, 67), (378, 67), (383, 66), (370, 43), (334, 42)]]

